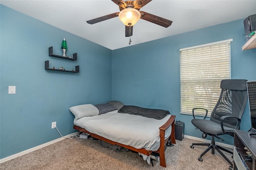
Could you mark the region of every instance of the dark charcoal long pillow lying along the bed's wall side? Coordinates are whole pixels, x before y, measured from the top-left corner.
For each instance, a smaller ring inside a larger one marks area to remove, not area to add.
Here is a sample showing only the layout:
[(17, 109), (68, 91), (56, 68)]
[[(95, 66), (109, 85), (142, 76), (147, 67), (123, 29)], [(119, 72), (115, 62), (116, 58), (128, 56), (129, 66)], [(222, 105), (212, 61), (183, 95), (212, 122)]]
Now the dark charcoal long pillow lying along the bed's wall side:
[(154, 119), (163, 119), (166, 115), (170, 114), (169, 111), (161, 109), (147, 109), (138, 106), (123, 106), (118, 113), (129, 113), (131, 115), (140, 115), (143, 117), (154, 118)]

